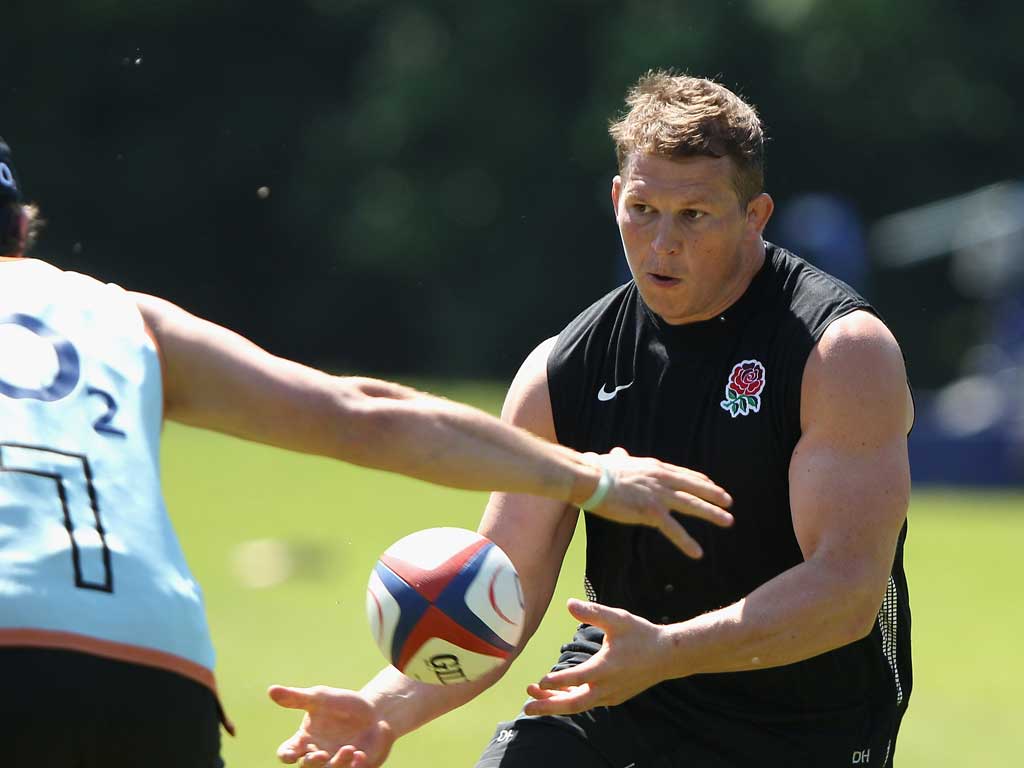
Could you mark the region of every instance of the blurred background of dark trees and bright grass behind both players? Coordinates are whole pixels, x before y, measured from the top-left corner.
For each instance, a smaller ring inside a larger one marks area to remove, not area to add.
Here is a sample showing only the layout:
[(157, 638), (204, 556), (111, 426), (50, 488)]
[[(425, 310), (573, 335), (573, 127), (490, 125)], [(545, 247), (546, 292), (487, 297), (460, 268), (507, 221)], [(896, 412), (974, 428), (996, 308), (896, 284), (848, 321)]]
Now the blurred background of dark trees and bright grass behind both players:
[[(627, 87), (674, 67), (751, 100), (768, 236), (849, 256), (916, 387), (900, 764), (1020, 762), (1024, 4), (5, 0), (2, 18), (0, 135), (47, 220), (36, 253), (334, 371), (508, 381), (625, 279), (605, 129)], [(820, 247), (808, 201), (842, 213)], [(495, 409), (503, 385), (432, 388)], [(483, 499), (173, 426), (164, 456), (240, 728), (225, 756), (270, 765), (296, 719), (266, 685), (361, 684), (375, 558), (475, 527)], [(391, 764), (471, 764), (571, 631), (582, 551), (516, 669)]]

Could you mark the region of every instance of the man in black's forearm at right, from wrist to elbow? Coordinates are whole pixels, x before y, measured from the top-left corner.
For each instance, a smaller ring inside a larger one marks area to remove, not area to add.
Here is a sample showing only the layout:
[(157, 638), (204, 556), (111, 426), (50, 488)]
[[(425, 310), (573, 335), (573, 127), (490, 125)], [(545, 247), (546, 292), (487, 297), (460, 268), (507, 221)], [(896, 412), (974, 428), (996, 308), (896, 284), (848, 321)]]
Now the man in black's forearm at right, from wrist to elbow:
[(882, 603), (877, 581), (801, 563), (732, 605), (667, 627), (667, 677), (779, 667), (854, 642)]

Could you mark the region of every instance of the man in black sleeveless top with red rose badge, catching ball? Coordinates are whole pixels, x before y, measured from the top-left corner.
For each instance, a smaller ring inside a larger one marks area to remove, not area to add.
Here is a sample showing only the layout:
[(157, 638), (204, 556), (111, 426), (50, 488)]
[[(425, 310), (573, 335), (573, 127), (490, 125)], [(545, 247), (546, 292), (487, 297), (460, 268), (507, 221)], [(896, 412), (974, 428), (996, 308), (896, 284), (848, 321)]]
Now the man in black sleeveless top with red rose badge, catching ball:
[[(478, 768), (888, 766), (910, 694), (902, 549), (912, 404), (902, 354), (851, 289), (762, 231), (763, 134), (709, 80), (649, 73), (611, 127), (633, 281), (530, 354), (503, 416), (581, 451), (707, 472), (729, 530), (687, 559), (587, 515), (582, 623)], [(480, 531), (522, 579), (531, 634), (577, 511), (496, 494)], [(527, 524), (528, 521), (528, 524)], [(284, 762), (376, 766), (499, 677), (385, 669), (360, 692), (273, 687), (306, 710)]]

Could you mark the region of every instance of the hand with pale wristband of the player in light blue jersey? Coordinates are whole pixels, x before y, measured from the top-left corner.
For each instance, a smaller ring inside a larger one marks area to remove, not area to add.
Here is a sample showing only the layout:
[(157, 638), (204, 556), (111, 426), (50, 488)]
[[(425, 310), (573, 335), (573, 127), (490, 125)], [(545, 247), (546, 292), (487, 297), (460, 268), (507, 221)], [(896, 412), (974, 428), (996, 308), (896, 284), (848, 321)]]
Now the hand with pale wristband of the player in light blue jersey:
[(615, 522), (657, 528), (690, 557), (703, 552), (673, 516), (674, 511), (723, 527), (732, 524), (732, 515), (724, 509), (732, 498), (707, 475), (657, 459), (638, 459), (621, 447), (600, 457), (600, 462), (611, 470), (614, 484), (589, 512)]

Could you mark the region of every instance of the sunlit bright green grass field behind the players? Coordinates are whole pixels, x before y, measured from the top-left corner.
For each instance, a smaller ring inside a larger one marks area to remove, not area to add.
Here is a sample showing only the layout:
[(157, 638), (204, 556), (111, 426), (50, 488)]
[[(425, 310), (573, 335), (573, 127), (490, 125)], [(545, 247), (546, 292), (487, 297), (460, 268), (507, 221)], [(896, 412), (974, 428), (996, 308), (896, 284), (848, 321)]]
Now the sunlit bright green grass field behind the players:
[[(500, 398), (495, 387), (444, 392), (492, 411)], [(221, 695), (238, 726), (236, 738), (224, 737), (224, 758), (228, 768), (276, 765), (274, 750), (298, 715), (278, 710), (267, 685), (359, 687), (383, 662), (364, 613), (377, 556), (419, 528), (474, 528), (485, 497), (175, 425), (163, 458), (167, 502), (204, 587)], [(298, 554), (288, 579), (247, 586), (274, 581), (281, 566), (267, 555), (240, 559), (240, 545), (258, 540)], [(1021, 764), (1022, 543), (1024, 493), (915, 492), (906, 550), (915, 685), (897, 752), (902, 768)], [(552, 607), (515, 667), (469, 706), (399, 741), (389, 766), (473, 765), (497, 721), (516, 713), (526, 683), (571, 634), (564, 602), (582, 595), (583, 552), (578, 531)]]

